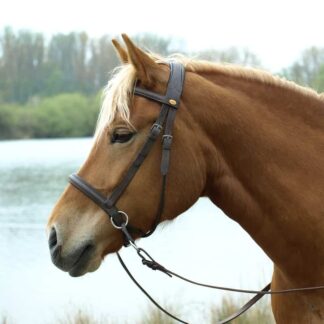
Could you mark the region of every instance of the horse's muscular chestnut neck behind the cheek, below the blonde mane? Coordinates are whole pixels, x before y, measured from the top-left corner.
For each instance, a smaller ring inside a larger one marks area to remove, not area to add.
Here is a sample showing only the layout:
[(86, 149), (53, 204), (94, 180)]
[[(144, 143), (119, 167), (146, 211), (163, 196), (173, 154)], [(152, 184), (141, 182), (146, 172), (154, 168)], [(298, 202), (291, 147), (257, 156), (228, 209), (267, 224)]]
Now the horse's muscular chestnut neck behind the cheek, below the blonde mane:
[(284, 271), (323, 262), (324, 103), (224, 76), (199, 84), (188, 99), (215, 157), (206, 195)]

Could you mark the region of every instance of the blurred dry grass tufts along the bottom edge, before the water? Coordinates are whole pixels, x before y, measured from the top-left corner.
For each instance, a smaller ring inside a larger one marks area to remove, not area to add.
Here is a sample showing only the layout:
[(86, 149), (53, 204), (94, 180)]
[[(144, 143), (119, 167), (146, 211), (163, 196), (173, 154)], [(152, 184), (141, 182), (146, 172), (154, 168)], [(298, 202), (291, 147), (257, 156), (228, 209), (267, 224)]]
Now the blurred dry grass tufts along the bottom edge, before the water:
[[(236, 301), (230, 297), (223, 298), (222, 302), (217, 306), (207, 307), (206, 311), (202, 316), (204, 320), (201, 321), (204, 324), (214, 324), (219, 320), (226, 318), (238, 310), (245, 302), (246, 299)], [(186, 305), (188, 306), (188, 305)], [(179, 316), (184, 320), (190, 320), (185, 313), (182, 312), (182, 306), (179, 305), (164, 305), (172, 314)], [(94, 312), (93, 312), (94, 313)], [(49, 324), (134, 324), (134, 321), (115, 321), (109, 317), (103, 317), (96, 319), (91, 312), (83, 310), (74, 310), (68, 313), (60, 314), (56, 319), (48, 321)], [(20, 324), (8, 317), (3, 317), (1, 324)], [(143, 313), (142, 317), (136, 322), (136, 324), (175, 324), (176, 321), (170, 319), (157, 308), (149, 306)], [(238, 319), (232, 321), (233, 324), (274, 324), (273, 315), (271, 313), (271, 306), (269, 299), (264, 299), (258, 304), (253, 306), (246, 314), (242, 315)]]

